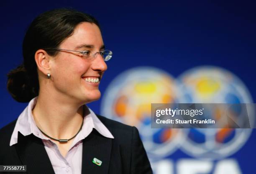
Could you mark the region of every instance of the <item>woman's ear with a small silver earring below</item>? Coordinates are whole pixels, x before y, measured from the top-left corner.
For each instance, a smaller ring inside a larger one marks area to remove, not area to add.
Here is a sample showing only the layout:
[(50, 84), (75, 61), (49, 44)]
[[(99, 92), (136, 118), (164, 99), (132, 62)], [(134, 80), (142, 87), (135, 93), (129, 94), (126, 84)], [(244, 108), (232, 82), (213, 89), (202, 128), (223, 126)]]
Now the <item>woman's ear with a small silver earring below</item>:
[(38, 49), (35, 53), (35, 61), (38, 67), (38, 70), (44, 73), (45, 75), (50, 73), (50, 56), (43, 49)]

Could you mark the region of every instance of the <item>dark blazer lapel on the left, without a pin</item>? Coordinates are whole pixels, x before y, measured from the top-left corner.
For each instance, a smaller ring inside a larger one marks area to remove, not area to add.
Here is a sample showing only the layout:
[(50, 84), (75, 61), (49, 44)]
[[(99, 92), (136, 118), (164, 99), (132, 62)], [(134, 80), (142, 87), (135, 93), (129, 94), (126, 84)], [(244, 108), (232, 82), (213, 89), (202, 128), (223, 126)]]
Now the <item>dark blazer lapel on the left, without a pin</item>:
[(18, 132), (18, 143), (15, 144), (18, 156), (23, 165), (27, 165), (28, 174), (54, 174), (51, 161), (40, 138), (33, 134), (23, 136)]

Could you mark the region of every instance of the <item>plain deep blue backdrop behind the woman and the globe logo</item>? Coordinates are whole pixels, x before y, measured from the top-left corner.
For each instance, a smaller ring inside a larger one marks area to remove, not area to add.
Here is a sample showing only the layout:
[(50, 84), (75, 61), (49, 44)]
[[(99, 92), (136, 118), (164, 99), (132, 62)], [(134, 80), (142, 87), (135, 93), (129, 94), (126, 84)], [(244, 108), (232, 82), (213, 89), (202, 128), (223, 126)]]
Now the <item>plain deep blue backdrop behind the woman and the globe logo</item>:
[[(17, 118), (27, 105), (15, 102), (8, 94), (6, 74), (22, 62), (22, 41), (28, 25), (40, 13), (61, 7), (90, 13), (100, 22), (106, 48), (114, 53), (100, 84), (102, 94), (114, 77), (133, 67), (158, 67), (177, 77), (192, 67), (214, 65), (236, 74), (256, 100), (253, 1), (5, 1), (0, 10), (0, 128)], [(89, 106), (99, 113), (100, 100)], [(238, 160), (243, 173), (254, 171), (255, 142), (253, 130), (245, 146), (231, 156)], [(179, 151), (173, 156), (174, 160), (188, 157)]]

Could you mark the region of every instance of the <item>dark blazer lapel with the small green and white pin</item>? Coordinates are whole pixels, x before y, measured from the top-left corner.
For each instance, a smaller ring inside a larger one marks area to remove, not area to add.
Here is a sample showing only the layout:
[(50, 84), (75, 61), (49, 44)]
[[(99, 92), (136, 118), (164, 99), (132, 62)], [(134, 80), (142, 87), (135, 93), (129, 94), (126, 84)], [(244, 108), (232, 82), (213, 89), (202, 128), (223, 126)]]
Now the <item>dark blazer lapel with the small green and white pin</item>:
[[(110, 164), (112, 138), (106, 138), (93, 129), (83, 140), (82, 174), (107, 174)], [(94, 164), (94, 158), (102, 161), (101, 166)]]

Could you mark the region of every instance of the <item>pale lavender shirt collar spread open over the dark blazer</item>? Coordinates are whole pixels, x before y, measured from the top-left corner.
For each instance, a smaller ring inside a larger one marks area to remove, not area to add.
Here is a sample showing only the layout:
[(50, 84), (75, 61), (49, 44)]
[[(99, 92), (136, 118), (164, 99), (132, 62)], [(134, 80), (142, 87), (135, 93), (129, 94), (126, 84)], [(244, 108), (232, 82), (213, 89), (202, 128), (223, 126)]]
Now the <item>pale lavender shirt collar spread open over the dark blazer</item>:
[[(18, 120), (15, 124), (13, 134), (10, 139), (10, 146), (13, 144), (18, 143), (18, 132), (20, 132), (23, 136), (28, 136), (33, 133), (34, 136), (38, 138), (49, 140), (46, 136), (44, 136), (41, 131), (36, 126), (35, 120), (32, 115), (32, 110), (36, 105), (37, 97), (33, 98), (29, 103), (28, 106), (23, 110), (23, 112), (18, 117)], [(84, 105), (84, 107), (87, 107)], [(74, 143), (86, 138), (91, 132), (92, 129), (95, 128), (102, 136), (107, 138), (114, 138), (113, 135), (110, 133), (108, 128), (100, 121), (99, 118), (95, 115), (95, 113), (88, 108), (90, 113), (88, 115), (84, 115), (84, 123), (82, 126), (81, 131), (77, 134), (76, 138), (74, 139)]]

